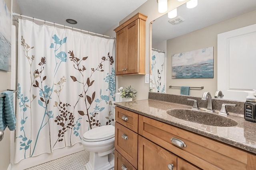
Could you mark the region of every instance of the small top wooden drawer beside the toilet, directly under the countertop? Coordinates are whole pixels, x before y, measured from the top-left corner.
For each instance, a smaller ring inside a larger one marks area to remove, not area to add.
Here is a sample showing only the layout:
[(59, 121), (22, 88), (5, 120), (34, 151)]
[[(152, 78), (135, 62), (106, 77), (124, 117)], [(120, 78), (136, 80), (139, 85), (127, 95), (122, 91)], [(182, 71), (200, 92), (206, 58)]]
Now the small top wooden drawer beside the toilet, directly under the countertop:
[(128, 129), (138, 133), (138, 114), (116, 107), (116, 121)]

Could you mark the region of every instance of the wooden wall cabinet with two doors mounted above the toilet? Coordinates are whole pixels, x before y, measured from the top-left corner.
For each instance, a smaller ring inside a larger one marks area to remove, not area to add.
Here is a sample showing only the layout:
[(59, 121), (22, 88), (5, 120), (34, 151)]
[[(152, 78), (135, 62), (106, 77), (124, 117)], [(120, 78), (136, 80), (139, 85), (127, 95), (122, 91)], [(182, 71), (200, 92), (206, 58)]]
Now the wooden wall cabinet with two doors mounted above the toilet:
[(118, 26), (116, 32), (116, 75), (145, 74), (146, 19), (138, 13)]

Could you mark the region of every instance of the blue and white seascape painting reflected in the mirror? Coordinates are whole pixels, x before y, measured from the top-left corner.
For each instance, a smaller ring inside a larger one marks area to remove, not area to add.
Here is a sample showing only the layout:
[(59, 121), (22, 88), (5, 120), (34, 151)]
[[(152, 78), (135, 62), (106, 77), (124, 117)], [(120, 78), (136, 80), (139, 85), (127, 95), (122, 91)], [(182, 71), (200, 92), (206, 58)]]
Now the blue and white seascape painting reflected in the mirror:
[(172, 78), (213, 78), (213, 47), (172, 55)]

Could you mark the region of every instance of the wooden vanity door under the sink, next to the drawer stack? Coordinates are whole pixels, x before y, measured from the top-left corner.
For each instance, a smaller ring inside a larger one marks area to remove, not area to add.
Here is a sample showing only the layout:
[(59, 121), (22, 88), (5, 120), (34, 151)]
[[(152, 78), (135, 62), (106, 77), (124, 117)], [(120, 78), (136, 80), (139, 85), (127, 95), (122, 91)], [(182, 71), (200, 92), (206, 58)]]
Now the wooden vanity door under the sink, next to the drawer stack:
[(144, 137), (138, 137), (138, 170), (169, 170), (168, 164), (173, 164), (172, 170), (177, 170), (177, 156)]

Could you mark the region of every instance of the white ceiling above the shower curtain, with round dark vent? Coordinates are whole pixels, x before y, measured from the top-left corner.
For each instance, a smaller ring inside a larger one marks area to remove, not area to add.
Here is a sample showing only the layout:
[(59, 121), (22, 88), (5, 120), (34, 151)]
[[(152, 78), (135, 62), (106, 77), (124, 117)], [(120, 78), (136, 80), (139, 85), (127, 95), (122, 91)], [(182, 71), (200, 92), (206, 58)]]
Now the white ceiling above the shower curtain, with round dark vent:
[[(103, 34), (147, 0), (17, 0), (21, 14)], [(76, 25), (66, 22), (76, 20)]]

